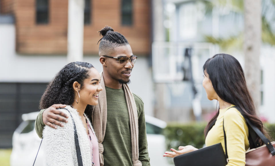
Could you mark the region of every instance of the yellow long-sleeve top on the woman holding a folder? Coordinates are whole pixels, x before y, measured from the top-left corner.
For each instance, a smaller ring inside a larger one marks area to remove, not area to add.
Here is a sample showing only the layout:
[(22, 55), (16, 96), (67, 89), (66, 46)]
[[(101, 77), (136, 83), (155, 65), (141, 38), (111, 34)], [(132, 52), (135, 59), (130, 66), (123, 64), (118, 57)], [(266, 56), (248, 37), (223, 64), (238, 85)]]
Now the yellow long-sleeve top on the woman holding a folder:
[[(233, 106), (231, 105), (230, 107)], [(210, 146), (221, 142), (223, 151), (225, 151), (223, 136), (224, 120), (229, 160), (227, 166), (245, 166), (245, 151), (249, 148), (248, 127), (241, 113), (236, 108), (230, 107), (219, 110), (217, 121), (205, 138), (205, 145)]]

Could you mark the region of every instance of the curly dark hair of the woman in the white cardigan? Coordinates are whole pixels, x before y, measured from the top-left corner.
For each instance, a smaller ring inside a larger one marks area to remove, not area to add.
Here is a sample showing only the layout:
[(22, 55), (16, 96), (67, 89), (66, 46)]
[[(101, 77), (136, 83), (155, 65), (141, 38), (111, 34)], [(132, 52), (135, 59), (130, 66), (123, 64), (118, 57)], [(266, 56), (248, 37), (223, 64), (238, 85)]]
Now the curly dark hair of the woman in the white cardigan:
[[(46, 109), (53, 104), (71, 105), (74, 102), (74, 89), (72, 84), (77, 81), (83, 86), (83, 81), (89, 77), (89, 69), (93, 65), (86, 62), (72, 62), (64, 66), (47, 85), (40, 99), (40, 109)], [(91, 106), (87, 106), (85, 113), (91, 114)]]

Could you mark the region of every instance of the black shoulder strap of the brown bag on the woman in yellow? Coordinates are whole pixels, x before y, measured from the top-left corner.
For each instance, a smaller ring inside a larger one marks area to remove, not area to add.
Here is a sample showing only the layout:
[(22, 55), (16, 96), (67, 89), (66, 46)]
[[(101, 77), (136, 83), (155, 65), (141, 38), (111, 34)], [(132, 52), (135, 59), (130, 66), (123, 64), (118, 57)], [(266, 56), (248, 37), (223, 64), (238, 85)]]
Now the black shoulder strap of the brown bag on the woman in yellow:
[[(239, 108), (236, 106), (230, 107), (230, 108), (236, 108), (239, 111)], [(228, 108), (229, 109), (229, 108)], [(239, 111), (240, 112), (240, 111)], [(240, 112), (241, 113), (241, 112)], [(242, 113), (241, 113), (242, 114)], [(242, 114), (243, 116), (243, 114)], [(253, 139), (253, 143), (256, 147), (258, 147), (259, 145), (257, 145), (256, 142), (256, 135), (254, 133), (256, 133), (262, 140), (263, 142), (266, 144), (266, 147), (268, 148), (268, 150), (270, 151), (270, 153), (272, 154), (272, 156), (275, 155), (275, 148), (272, 146), (272, 144), (270, 143), (270, 140), (268, 140), (266, 138), (266, 136), (264, 136), (264, 134), (254, 125), (250, 122), (250, 120), (248, 118), (246, 118), (245, 116), (243, 116), (243, 118), (245, 119), (248, 129), (249, 130), (253, 130), (253, 131), (249, 131), (249, 133), (251, 134), (251, 138)], [(253, 133), (254, 132), (254, 133)], [(224, 125), (223, 125), (223, 134), (224, 134), (224, 142), (225, 142), (225, 157), (227, 156), (227, 145), (226, 145), (226, 134), (225, 134), (225, 130), (224, 130)], [(250, 142), (249, 142), (250, 143)]]

